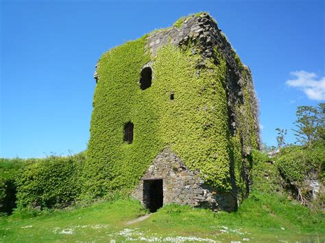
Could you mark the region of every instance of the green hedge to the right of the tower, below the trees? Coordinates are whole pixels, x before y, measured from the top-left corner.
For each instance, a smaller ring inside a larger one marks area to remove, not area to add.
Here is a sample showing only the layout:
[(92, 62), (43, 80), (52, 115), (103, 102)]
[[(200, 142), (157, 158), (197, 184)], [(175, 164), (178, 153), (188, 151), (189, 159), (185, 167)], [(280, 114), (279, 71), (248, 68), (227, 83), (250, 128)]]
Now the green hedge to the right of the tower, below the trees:
[(313, 146), (287, 146), (275, 157), (253, 150), (250, 180), (252, 189), (260, 192), (291, 193), (304, 189), (304, 179), (311, 179), (311, 172), (324, 183), (325, 144), (317, 142)]

